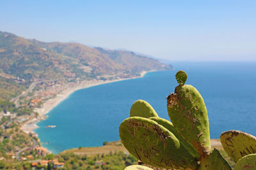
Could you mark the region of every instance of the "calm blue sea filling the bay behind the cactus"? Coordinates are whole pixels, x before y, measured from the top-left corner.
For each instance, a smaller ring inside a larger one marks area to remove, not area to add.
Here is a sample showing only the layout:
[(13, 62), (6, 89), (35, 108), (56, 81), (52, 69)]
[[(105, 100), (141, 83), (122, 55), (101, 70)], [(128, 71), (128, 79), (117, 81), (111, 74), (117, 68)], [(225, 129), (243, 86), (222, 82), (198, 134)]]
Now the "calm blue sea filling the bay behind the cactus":
[(172, 71), (77, 90), (51, 110), (47, 120), (38, 123), (36, 133), (43, 146), (59, 153), (116, 141), (118, 127), (137, 99), (148, 101), (159, 117), (170, 120), (165, 97), (177, 86), (175, 73), (179, 69), (188, 73), (186, 84), (204, 97), (211, 138), (220, 138), (221, 132), (230, 129), (256, 135), (256, 62), (174, 62), (173, 66)]

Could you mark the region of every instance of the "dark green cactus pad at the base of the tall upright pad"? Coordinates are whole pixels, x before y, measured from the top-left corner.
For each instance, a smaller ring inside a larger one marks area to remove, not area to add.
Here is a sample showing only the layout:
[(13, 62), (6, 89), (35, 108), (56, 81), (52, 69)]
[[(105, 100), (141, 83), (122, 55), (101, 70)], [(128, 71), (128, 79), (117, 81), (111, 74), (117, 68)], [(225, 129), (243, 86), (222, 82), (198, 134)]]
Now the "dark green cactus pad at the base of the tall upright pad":
[(205, 157), (200, 162), (199, 170), (231, 170), (231, 167), (228, 165), (228, 162), (223, 159), (220, 152), (215, 148), (210, 153), (209, 157)]

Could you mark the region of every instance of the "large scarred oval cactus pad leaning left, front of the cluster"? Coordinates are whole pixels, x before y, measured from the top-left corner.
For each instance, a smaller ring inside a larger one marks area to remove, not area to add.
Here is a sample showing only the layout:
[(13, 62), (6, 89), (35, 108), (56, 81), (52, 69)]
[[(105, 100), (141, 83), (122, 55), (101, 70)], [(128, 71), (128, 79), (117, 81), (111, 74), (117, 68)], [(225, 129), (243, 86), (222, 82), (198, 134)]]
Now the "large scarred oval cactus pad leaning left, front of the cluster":
[(196, 169), (197, 160), (162, 125), (143, 117), (122, 122), (119, 134), (125, 148), (145, 164), (154, 167)]

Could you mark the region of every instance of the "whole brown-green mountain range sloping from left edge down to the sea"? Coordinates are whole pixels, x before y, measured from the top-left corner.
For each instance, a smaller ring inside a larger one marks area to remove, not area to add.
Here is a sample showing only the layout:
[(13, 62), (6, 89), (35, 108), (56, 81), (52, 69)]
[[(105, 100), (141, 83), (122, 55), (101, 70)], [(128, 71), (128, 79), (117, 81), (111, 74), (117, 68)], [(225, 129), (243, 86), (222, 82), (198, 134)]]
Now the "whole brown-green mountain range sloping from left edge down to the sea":
[(0, 100), (17, 96), (36, 80), (125, 78), (152, 69), (171, 67), (134, 52), (79, 43), (44, 43), (0, 31)]

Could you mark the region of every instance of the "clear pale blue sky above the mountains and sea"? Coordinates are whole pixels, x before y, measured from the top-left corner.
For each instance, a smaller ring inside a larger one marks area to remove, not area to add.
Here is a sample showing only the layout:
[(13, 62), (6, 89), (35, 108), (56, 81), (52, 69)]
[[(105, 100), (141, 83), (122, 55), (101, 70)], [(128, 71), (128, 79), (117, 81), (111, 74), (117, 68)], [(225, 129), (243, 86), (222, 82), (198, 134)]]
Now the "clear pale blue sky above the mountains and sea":
[(167, 60), (256, 61), (256, 1), (3, 1), (0, 31)]

